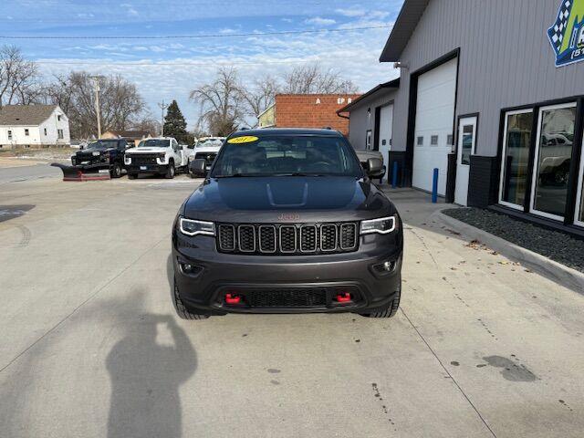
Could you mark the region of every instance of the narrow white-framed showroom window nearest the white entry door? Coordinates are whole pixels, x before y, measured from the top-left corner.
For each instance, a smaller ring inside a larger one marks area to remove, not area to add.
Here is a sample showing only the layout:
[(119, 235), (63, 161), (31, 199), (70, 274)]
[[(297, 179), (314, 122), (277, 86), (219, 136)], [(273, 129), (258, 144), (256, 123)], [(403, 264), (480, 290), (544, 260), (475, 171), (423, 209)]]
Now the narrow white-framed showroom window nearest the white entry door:
[(499, 202), (523, 210), (529, 174), (533, 110), (506, 113)]

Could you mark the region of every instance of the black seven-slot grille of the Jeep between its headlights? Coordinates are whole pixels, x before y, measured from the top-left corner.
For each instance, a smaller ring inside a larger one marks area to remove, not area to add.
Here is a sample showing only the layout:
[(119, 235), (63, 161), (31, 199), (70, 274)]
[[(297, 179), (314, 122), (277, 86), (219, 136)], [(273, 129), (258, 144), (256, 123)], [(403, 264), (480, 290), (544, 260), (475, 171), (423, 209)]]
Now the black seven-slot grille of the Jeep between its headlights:
[(349, 253), (359, 246), (356, 223), (218, 224), (222, 253), (308, 255)]

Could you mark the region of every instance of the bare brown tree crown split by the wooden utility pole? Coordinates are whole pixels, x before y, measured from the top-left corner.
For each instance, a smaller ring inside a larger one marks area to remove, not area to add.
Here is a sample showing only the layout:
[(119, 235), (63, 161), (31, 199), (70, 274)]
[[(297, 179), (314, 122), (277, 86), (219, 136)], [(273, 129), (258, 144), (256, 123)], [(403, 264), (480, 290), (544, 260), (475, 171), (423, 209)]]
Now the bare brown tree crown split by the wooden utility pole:
[[(141, 120), (146, 105), (136, 86), (120, 76), (99, 79), (102, 130), (127, 130)], [(86, 138), (97, 132), (94, 84), (89, 73), (72, 72), (47, 86), (47, 103), (68, 115), (71, 133)]]

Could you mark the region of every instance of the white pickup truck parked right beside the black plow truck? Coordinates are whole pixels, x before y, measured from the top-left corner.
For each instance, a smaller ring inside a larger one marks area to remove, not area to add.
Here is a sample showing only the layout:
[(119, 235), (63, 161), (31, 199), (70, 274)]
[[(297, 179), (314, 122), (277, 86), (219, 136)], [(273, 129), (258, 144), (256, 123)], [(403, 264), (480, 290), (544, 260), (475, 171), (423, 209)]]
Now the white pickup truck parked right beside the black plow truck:
[(130, 180), (139, 173), (159, 174), (172, 179), (176, 172), (187, 172), (192, 154), (193, 150), (179, 145), (171, 137), (144, 139), (126, 151), (124, 166)]

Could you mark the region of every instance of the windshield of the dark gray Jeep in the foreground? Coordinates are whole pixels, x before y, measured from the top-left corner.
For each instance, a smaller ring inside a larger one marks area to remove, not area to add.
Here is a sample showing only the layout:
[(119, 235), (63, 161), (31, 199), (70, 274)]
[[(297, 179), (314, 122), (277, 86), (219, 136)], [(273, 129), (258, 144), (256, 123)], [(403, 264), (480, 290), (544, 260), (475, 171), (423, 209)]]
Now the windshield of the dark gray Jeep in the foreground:
[(227, 141), (212, 178), (233, 176), (362, 176), (349, 142), (330, 136), (266, 136), (245, 143)]

